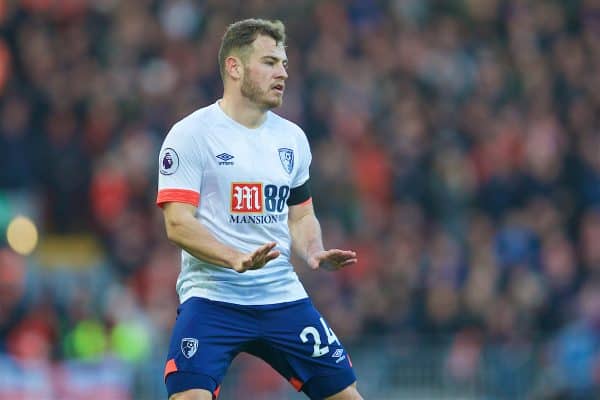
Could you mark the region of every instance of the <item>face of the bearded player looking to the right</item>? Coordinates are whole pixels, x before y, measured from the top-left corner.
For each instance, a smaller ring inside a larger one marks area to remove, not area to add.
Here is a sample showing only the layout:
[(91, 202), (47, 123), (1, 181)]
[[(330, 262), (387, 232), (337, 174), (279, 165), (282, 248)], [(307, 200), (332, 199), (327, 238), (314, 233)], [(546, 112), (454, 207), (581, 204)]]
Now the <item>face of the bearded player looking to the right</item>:
[(269, 36), (259, 36), (244, 65), (242, 96), (265, 109), (279, 107), (287, 79), (284, 47)]

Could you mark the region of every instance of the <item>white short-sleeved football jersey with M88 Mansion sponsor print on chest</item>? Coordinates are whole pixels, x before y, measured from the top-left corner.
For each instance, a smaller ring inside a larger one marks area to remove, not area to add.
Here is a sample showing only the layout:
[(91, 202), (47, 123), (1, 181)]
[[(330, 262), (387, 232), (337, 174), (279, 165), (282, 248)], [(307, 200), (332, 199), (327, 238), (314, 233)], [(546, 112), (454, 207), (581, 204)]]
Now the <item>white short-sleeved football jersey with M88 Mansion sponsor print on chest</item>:
[(286, 200), (308, 180), (310, 162), (302, 129), (272, 112), (250, 129), (216, 102), (173, 126), (160, 152), (157, 203), (197, 206), (203, 226), (241, 252), (267, 242), (281, 252), (263, 268), (240, 274), (182, 251), (180, 302), (197, 296), (255, 305), (307, 297), (290, 263)]

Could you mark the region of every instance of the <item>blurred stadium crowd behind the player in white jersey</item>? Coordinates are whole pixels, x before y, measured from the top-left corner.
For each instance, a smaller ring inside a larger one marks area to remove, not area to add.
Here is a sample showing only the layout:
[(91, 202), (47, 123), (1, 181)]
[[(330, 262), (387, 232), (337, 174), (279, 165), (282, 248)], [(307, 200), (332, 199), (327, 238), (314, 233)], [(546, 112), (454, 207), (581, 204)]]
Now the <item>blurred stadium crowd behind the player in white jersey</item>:
[[(366, 398), (597, 398), (600, 2), (0, 0), (0, 399), (165, 398), (157, 151), (250, 16), (360, 255), (297, 269)], [(241, 357), (222, 398), (301, 397)]]

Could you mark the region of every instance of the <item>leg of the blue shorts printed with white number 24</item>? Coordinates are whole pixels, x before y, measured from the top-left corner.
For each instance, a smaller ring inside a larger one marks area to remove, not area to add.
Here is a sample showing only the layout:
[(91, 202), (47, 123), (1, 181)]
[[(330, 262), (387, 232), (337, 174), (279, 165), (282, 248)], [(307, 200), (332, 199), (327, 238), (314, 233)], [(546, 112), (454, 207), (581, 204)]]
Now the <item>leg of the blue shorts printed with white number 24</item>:
[(311, 399), (356, 381), (349, 355), (310, 300), (267, 310), (260, 321), (264, 349), (257, 355)]

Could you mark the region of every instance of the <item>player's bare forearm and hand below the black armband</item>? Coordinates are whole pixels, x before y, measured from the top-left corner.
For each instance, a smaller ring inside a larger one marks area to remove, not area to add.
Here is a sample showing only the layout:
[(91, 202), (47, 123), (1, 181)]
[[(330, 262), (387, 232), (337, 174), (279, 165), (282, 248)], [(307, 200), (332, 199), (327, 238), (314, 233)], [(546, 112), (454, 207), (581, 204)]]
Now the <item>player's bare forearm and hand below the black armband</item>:
[(358, 259), (351, 250), (324, 250), (321, 226), (312, 202), (290, 206), (288, 226), (292, 250), (312, 269), (337, 270), (355, 264)]

